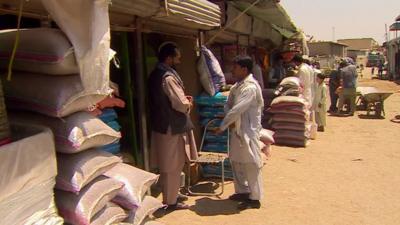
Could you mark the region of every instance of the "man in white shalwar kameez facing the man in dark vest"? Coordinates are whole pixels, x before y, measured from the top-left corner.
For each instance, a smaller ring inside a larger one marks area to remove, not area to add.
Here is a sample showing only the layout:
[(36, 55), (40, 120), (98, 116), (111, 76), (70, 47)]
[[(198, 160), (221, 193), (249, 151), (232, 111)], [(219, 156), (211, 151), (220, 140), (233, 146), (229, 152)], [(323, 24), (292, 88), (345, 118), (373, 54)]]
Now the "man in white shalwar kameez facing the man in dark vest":
[(233, 76), (238, 80), (232, 87), (226, 105), (227, 114), (217, 129), (230, 130), (230, 151), (235, 194), (229, 199), (240, 201), (240, 210), (260, 208), (263, 195), (262, 153), (259, 145), (261, 113), (264, 107), (261, 88), (250, 73), (250, 57), (238, 57), (234, 62)]

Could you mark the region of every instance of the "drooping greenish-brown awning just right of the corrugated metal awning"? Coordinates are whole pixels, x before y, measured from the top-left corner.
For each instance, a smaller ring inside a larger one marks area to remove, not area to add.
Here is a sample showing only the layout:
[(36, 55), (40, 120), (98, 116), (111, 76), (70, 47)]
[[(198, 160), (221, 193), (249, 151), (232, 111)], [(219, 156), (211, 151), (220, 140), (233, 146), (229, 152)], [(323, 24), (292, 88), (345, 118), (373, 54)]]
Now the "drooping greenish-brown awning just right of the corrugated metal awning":
[[(247, 9), (254, 0), (233, 1), (232, 4), (240, 9)], [(297, 27), (286, 13), (285, 9), (275, 1), (261, 0), (260, 3), (247, 11), (247, 14), (271, 24), (282, 36), (290, 38), (298, 33)]]

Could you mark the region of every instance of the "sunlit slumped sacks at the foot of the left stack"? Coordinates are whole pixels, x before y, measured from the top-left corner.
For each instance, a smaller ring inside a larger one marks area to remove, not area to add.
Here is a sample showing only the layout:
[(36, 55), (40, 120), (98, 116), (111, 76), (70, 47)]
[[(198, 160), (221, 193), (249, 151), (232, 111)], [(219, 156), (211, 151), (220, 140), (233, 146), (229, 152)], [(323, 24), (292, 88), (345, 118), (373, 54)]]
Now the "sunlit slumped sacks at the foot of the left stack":
[(146, 196), (158, 175), (96, 149), (59, 159), (56, 203), (68, 223), (138, 225), (163, 207), (159, 200)]

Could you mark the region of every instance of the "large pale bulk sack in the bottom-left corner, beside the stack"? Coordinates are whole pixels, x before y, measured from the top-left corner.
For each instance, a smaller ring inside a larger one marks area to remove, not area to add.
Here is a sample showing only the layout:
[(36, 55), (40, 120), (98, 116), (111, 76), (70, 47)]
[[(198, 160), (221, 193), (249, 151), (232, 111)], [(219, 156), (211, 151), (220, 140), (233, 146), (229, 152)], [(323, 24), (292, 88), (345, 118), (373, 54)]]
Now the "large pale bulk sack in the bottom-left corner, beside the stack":
[(11, 131), (13, 141), (0, 147), (0, 224), (62, 225), (54, 204), (52, 132), (20, 122), (11, 122)]

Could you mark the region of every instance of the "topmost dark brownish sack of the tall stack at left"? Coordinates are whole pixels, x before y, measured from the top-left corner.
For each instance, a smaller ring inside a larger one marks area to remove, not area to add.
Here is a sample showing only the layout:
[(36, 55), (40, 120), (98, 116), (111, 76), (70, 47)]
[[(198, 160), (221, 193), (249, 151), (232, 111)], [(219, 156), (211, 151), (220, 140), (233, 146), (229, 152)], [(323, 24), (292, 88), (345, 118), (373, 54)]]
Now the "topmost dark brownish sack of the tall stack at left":
[[(8, 68), (16, 34), (16, 30), (0, 31), (0, 68)], [(61, 30), (50, 28), (19, 31), (13, 69), (51, 75), (79, 74), (72, 44)]]

